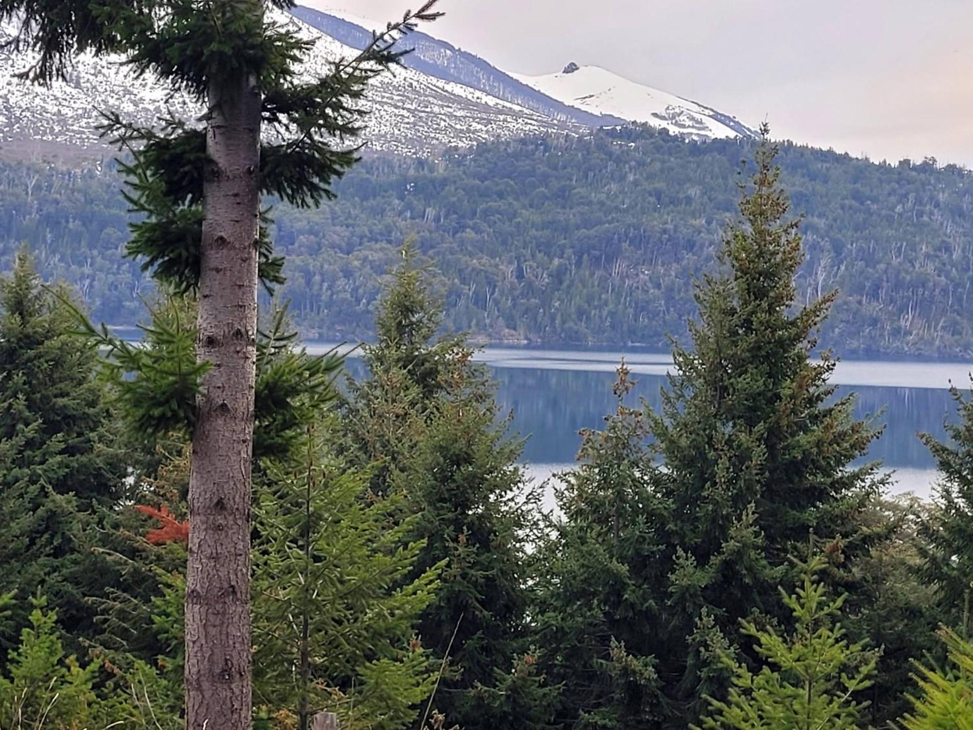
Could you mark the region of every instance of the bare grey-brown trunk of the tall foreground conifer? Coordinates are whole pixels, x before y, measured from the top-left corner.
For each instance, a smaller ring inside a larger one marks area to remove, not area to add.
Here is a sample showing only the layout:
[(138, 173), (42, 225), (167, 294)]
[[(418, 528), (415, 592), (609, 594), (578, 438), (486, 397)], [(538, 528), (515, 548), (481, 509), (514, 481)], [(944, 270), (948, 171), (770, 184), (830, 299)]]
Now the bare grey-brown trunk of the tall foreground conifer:
[[(255, 2), (254, 8), (260, 10)], [(250, 471), (257, 338), (261, 98), (211, 82), (197, 352), (202, 383), (190, 477), (186, 582), (189, 730), (251, 722)]]

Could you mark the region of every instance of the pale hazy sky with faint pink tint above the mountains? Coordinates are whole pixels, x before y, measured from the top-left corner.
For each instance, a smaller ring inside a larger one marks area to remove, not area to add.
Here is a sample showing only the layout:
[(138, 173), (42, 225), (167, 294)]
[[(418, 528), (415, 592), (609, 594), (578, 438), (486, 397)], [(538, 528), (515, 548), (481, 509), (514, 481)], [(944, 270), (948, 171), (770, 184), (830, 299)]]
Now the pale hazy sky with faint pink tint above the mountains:
[[(418, 0), (299, 0), (394, 18)], [(423, 28), (506, 70), (597, 64), (776, 137), (973, 166), (973, 0), (440, 0)]]

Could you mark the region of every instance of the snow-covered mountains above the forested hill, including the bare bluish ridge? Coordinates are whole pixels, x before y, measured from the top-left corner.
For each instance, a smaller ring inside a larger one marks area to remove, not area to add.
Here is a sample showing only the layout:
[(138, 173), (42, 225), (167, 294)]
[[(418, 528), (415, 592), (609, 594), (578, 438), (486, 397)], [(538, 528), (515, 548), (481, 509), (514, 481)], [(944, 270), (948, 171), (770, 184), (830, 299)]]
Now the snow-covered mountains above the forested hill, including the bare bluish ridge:
[[(372, 37), (368, 21), (340, 13), (299, 6), (292, 16), (279, 19), (315, 40), (304, 69), (308, 76), (355, 55)], [(8, 151), (37, 145), (100, 149), (94, 131), (99, 110), (118, 111), (147, 126), (161, 116), (192, 119), (202, 111), (195, 100), (173, 95), (161, 83), (134, 78), (120, 57), (84, 55), (67, 79), (50, 88), (20, 81), (16, 74), (36, 56), (5, 45), (16, 29), (13, 23), (0, 24), (0, 147)], [(517, 77), (422, 32), (411, 34), (404, 48), (413, 51), (405, 57), (406, 67), (382, 74), (363, 102), (371, 112), (365, 138), (373, 150), (427, 154), (539, 132), (582, 133), (628, 120), (694, 138), (752, 133), (732, 117), (602, 69)]]

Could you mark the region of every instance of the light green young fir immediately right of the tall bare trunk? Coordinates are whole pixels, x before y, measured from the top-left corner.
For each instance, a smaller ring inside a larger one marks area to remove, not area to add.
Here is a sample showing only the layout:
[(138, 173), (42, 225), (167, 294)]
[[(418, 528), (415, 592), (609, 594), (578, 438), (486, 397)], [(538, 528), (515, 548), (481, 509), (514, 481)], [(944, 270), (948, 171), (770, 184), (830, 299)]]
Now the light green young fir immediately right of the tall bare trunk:
[(414, 623), (442, 566), (409, 577), (423, 543), (407, 540), (413, 521), (395, 524), (401, 497), (362, 499), (368, 473), (329, 456), (328, 440), (311, 431), (305, 463), (271, 466), (259, 498), (257, 704), (298, 730), (317, 712), (405, 728), (432, 691)]

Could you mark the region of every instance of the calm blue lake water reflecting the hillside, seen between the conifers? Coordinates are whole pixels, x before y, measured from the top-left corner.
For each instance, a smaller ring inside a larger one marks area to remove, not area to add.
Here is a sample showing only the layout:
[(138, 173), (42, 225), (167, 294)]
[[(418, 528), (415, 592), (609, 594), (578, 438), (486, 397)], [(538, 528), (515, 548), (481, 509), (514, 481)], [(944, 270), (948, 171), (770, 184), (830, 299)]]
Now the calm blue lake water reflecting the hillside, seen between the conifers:
[[(671, 364), (667, 354), (532, 347), (486, 347), (478, 353), (497, 382), (499, 403), (513, 412), (514, 428), (527, 439), (523, 457), (536, 479), (570, 466), (580, 429), (601, 427), (614, 408), (611, 386), (623, 356), (637, 380), (632, 396), (658, 407)], [(356, 369), (352, 362), (349, 366)], [(832, 379), (838, 393), (857, 393), (856, 415), (876, 418), (884, 426), (869, 457), (882, 460), (892, 472), (894, 493), (930, 493), (935, 462), (917, 434), (945, 438), (945, 421), (956, 417), (950, 384), (968, 388), (971, 369), (968, 363), (839, 363)]]

